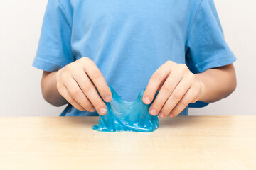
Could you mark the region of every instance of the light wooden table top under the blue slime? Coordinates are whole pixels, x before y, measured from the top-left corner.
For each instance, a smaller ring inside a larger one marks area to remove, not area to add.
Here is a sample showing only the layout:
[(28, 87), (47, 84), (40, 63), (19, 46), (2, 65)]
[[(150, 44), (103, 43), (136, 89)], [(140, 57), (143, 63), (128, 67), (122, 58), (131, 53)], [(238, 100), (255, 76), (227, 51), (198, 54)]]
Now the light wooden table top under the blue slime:
[(256, 169), (256, 116), (166, 118), (151, 133), (95, 123), (0, 118), (0, 169)]

